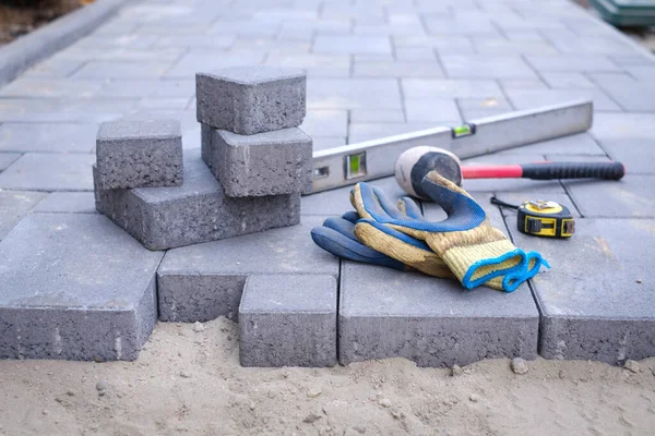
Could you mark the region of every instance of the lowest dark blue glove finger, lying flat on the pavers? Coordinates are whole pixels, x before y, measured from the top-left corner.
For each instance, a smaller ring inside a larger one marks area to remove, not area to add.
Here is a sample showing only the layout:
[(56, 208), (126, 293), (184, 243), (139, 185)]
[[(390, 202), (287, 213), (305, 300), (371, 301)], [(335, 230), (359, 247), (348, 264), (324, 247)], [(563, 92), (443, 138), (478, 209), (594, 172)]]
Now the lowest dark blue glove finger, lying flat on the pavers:
[(318, 246), (340, 258), (385, 266), (398, 270), (406, 269), (403, 263), (327, 227), (313, 228), (311, 230), (311, 239)]

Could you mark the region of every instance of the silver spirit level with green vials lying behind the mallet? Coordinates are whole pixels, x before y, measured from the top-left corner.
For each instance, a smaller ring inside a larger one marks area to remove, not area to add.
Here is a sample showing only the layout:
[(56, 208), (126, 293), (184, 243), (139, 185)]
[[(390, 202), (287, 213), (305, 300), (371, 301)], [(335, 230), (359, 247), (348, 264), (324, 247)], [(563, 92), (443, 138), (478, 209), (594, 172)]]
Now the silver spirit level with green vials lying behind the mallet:
[(315, 152), (312, 193), (393, 175), (401, 154), (416, 146), (444, 148), (466, 159), (584, 132), (592, 120), (593, 102), (573, 101)]

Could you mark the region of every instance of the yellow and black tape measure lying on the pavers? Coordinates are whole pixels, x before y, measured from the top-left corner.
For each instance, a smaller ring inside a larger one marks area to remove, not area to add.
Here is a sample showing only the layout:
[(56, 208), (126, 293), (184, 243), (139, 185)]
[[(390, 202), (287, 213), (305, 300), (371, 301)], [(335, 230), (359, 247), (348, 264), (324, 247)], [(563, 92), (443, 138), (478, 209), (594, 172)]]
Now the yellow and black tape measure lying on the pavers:
[(575, 233), (571, 211), (557, 202), (537, 199), (514, 206), (492, 196), (491, 203), (516, 209), (516, 228), (522, 233), (546, 238), (571, 238)]

